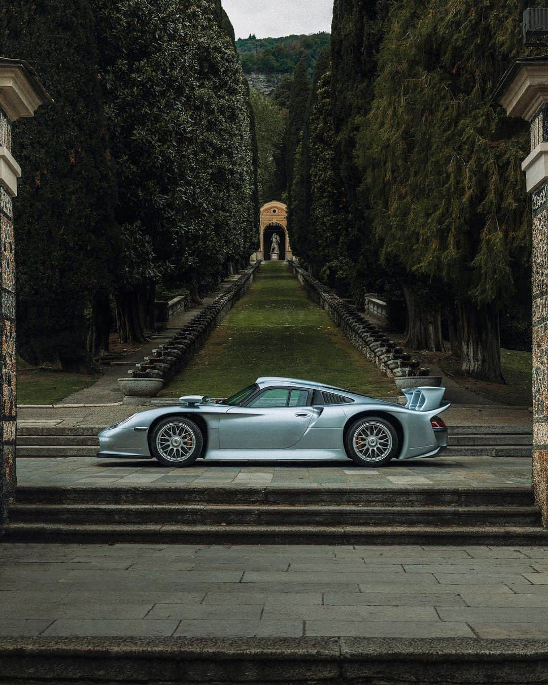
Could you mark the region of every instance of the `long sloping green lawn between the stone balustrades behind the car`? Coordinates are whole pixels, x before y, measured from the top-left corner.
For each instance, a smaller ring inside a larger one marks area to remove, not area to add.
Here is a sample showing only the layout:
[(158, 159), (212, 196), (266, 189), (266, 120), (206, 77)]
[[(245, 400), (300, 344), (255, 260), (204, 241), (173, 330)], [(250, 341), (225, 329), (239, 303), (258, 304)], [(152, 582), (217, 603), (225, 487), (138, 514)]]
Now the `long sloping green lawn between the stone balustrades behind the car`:
[(247, 295), (160, 395), (227, 397), (262, 375), (316, 380), (372, 397), (398, 394), (306, 297), (284, 262), (262, 264)]

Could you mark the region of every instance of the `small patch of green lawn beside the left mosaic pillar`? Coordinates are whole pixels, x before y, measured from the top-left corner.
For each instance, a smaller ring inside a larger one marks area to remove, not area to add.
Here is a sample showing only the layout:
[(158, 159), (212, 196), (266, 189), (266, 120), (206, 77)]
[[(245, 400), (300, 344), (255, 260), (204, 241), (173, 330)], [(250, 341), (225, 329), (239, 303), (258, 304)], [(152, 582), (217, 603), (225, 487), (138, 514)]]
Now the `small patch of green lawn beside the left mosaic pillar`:
[(67, 395), (88, 388), (99, 376), (36, 369), (17, 360), (17, 403), (54, 404)]

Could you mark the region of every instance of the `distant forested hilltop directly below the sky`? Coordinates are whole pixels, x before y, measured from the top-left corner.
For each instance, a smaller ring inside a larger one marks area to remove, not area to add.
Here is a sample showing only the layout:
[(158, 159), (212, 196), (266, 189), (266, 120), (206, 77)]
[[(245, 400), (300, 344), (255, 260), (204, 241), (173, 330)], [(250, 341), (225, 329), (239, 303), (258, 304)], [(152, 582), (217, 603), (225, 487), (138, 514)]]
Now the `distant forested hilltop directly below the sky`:
[(266, 74), (291, 74), (301, 60), (304, 60), (308, 75), (312, 74), (319, 53), (329, 45), (329, 34), (310, 36), (285, 36), (284, 38), (238, 38), (236, 49), (240, 55), (242, 69)]

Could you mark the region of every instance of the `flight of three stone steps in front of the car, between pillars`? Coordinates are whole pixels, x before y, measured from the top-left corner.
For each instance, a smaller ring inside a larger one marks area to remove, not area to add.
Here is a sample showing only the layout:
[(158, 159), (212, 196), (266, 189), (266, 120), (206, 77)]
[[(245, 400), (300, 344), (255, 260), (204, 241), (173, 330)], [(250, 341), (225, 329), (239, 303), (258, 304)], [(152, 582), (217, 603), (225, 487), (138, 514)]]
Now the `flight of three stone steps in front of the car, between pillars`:
[(7, 540), (548, 545), (528, 487), (18, 488)]

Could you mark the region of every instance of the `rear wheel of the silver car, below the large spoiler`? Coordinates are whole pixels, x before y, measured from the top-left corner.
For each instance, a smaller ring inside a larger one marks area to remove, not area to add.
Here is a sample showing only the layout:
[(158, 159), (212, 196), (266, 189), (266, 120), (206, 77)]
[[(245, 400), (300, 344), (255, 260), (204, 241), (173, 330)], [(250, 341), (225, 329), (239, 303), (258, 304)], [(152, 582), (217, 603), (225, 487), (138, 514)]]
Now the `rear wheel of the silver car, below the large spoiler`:
[[(373, 443), (373, 440), (376, 440), (376, 443)], [(380, 416), (362, 416), (348, 429), (345, 449), (353, 462), (375, 469), (378, 466), (386, 466), (390, 459), (397, 455), (399, 440), (390, 421), (381, 419)]]

